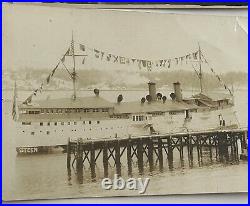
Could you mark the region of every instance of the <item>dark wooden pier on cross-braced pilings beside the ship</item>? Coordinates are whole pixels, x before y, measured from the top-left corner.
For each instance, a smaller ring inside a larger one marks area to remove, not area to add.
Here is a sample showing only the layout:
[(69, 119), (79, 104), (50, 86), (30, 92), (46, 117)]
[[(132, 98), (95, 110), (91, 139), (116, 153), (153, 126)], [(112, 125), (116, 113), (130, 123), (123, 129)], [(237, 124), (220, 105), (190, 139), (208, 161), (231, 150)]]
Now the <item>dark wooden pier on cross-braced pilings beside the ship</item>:
[[(240, 146), (240, 148), (239, 148)], [(184, 148), (187, 157), (184, 158)], [(164, 160), (168, 169), (173, 170), (174, 154), (178, 154), (180, 162), (188, 159), (189, 167), (193, 167), (194, 155), (198, 164), (203, 164), (203, 152), (209, 153), (211, 163), (239, 162), (247, 148), (247, 130), (218, 130), (166, 135), (139, 136), (130, 138), (115, 138), (106, 140), (69, 139), (67, 145), (67, 168), (76, 168), (80, 174), (84, 165), (90, 167), (91, 179), (96, 179), (96, 162), (102, 161), (103, 176), (109, 175), (109, 163), (114, 162), (115, 173), (122, 175), (121, 159), (126, 162), (126, 175), (132, 176), (135, 169), (132, 163), (136, 160), (139, 175), (144, 174), (144, 162), (148, 163), (149, 172), (163, 171)], [(175, 151), (175, 152), (174, 152)], [(177, 152), (176, 152), (177, 151)], [(214, 152), (215, 151), (215, 152)], [(165, 154), (164, 154), (165, 153)], [(165, 157), (165, 159), (164, 159)], [(102, 158), (102, 160), (101, 160)], [(154, 162), (157, 162), (157, 167)], [(124, 173), (123, 173), (124, 174)]]

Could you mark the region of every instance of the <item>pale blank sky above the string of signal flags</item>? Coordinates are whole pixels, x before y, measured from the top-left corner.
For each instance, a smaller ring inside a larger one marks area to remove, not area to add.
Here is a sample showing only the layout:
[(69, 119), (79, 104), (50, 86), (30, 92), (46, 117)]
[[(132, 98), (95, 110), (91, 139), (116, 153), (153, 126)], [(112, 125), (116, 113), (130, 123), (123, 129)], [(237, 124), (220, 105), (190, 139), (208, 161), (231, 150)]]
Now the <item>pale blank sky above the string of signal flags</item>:
[[(183, 56), (196, 51), (199, 42), (218, 73), (247, 72), (246, 16), (22, 4), (3, 7), (3, 69), (53, 69), (69, 47), (73, 31), (76, 43), (150, 60)], [(138, 70), (138, 67), (100, 61), (86, 54), (89, 56), (84, 65), (77, 62), (79, 69)]]

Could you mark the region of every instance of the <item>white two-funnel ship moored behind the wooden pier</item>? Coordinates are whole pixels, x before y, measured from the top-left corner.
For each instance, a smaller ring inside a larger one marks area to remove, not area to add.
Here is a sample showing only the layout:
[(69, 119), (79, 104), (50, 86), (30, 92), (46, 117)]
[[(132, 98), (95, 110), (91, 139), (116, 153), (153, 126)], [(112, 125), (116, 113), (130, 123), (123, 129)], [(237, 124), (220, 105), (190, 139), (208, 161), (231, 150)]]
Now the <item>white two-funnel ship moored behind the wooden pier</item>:
[[(75, 61), (74, 52), (71, 54)], [(157, 134), (237, 128), (232, 95), (208, 94), (201, 91), (184, 98), (180, 82), (173, 83), (170, 97), (157, 91), (156, 82), (147, 82), (148, 95), (131, 102), (117, 102), (93, 95), (76, 94), (76, 69), (70, 72), (73, 95), (68, 98), (37, 100), (17, 104), (14, 95), (16, 151), (18, 154), (46, 153), (65, 148), (69, 138), (83, 141), (133, 138)]]

